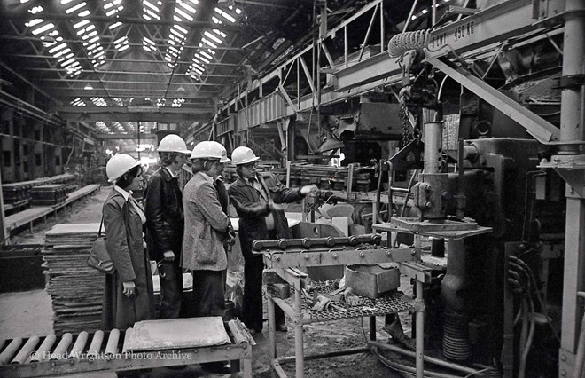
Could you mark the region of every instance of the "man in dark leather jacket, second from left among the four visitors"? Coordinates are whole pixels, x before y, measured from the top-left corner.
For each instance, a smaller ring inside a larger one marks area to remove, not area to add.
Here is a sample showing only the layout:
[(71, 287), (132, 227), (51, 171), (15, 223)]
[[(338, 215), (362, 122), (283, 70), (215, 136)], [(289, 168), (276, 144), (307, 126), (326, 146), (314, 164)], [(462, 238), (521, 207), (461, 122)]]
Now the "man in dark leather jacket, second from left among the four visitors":
[(145, 196), (148, 252), (159, 265), (159, 319), (181, 316), (183, 272), (179, 267), (183, 240), (183, 193), (178, 172), (191, 154), (183, 138), (169, 134), (160, 140), (160, 169), (148, 180)]

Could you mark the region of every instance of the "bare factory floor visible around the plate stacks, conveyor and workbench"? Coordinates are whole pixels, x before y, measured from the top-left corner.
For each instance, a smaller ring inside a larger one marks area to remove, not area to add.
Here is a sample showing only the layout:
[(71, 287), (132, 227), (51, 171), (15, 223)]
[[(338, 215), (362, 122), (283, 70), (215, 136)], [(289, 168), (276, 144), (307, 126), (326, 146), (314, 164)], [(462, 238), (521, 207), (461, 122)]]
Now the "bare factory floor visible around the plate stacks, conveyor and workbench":
[[(109, 188), (102, 188), (89, 199), (74, 205), (72, 209), (60, 213), (58, 218), (51, 217), (44, 224), (35, 225), (34, 232), (22, 232), (12, 238), (12, 244), (40, 244), (43, 243), (44, 232), (55, 224), (65, 223), (94, 223), (99, 222), (101, 206), (105, 201)], [(289, 330), (286, 333), (277, 333), (277, 350), (279, 356), (294, 355), (294, 329), (288, 320)], [(409, 324), (404, 325), (409, 329)], [(382, 317), (378, 317), (378, 341), (389, 338), (384, 332)], [(253, 348), (253, 376), (268, 378), (277, 376), (269, 369), (269, 337), (265, 324), (264, 331), (255, 335), (257, 346)], [(304, 326), (303, 341), (304, 354), (311, 355), (328, 351), (359, 348), (365, 346), (365, 335), (368, 334), (367, 319), (347, 319), (314, 323)], [(405, 330), (406, 330), (405, 329)], [(28, 337), (32, 335), (50, 335), (52, 329), (51, 297), (43, 290), (36, 289), (16, 293), (0, 294), (0, 340), (14, 337)], [(282, 365), (285, 372), (294, 376), (294, 363)], [(333, 358), (320, 358), (305, 361), (305, 376), (307, 377), (398, 377), (377, 358), (370, 353), (358, 353)], [(148, 377), (221, 377), (222, 374), (208, 374), (202, 371), (199, 365), (187, 366), (183, 370), (169, 370), (167, 368), (153, 369), (143, 374)], [(68, 377), (115, 377), (113, 372), (99, 372), (95, 374), (74, 374)], [(225, 375), (230, 376), (230, 375)]]

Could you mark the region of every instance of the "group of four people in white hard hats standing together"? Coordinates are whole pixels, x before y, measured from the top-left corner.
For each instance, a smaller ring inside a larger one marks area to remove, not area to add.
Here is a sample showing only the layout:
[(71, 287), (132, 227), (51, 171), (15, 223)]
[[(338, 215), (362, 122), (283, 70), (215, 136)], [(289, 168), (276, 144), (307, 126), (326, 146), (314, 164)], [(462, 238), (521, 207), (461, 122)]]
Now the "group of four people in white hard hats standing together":
[[(253, 240), (290, 238), (281, 203), (299, 201), (316, 186), (286, 188), (272, 173), (258, 171), (259, 157), (240, 146), (231, 155), (238, 180), (226, 191), (222, 170), (230, 159), (221, 144), (204, 141), (189, 151), (182, 138), (170, 134), (158, 150), (160, 169), (148, 180), (144, 207), (132, 197), (142, 185), (139, 163), (116, 154), (106, 165), (113, 189), (104, 203), (103, 222), (115, 272), (106, 276), (105, 329), (154, 319), (150, 260), (159, 270), (159, 319), (223, 316), (226, 247), (235, 235), (228, 217), (231, 203), (238, 212), (245, 261), (243, 320), (253, 335), (261, 332), (264, 265), (252, 253)], [(182, 190), (178, 173), (185, 163), (193, 177)], [(191, 301), (183, 300), (183, 270), (193, 276)], [(282, 311), (277, 311), (277, 330), (286, 330)]]

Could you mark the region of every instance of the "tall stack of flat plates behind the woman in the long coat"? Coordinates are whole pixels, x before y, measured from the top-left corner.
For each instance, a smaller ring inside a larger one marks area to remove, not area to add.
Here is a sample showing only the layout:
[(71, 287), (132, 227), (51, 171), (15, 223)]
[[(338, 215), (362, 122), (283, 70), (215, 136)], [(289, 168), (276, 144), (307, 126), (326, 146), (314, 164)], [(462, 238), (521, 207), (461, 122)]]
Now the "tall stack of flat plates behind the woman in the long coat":
[(43, 267), (55, 334), (101, 327), (104, 274), (87, 264), (99, 224), (56, 224), (45, 233)]

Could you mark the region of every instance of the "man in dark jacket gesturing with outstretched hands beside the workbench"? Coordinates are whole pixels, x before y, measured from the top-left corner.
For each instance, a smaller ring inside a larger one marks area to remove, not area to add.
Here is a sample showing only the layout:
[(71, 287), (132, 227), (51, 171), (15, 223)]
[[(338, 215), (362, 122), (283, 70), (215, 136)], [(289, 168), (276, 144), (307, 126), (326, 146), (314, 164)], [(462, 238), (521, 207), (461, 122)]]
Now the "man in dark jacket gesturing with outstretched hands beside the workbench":
[[(236, 164), (238, 180), (230, 185), (231, 203), (238, 211), (239, 240), (244, 256), (244, 322), (255, 335), (262, 331), (262, 271), (261, 255), (253, 255), (253, 240), (290, 239), (292, 237), (280, 203), (300, 201), (316, 192), (316, 185), (289, 189), (269, 172), (256, 171), (260, 158), (245, 146), (236, 148), (231, 160)], [(286, 331), (285, 313), (275, 307), (278, 331)]]

